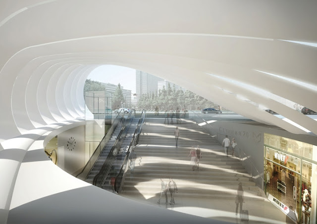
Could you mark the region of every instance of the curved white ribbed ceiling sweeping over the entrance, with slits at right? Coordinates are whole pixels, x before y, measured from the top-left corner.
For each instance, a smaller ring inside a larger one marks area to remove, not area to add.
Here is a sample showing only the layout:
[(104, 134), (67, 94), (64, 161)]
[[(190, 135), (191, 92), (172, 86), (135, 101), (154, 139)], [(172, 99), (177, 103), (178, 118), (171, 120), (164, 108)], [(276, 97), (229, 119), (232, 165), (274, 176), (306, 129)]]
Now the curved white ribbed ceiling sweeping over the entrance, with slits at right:
[(316, 10), (296, 0), (3, 0), (0, 141), (82, 117), (85, 79), (101, 64), (152, 73), (306, 134), (243, 96), (317, 134), (316, 120), (245, 85), (317, 111), (317, 91), (289, 81), (317, 86)]

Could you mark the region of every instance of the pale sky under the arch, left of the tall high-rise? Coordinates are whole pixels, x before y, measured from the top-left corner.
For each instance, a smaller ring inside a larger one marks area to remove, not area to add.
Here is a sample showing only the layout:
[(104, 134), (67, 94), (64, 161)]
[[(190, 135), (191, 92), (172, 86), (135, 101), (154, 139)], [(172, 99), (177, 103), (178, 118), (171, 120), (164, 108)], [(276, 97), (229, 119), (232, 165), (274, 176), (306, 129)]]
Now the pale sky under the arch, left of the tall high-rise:
[(135, 69), (133, 68), (117, 65), (101, 65), (95, 68), (87, 79), (115, 85), (120, 83), (123, 89), (131, 90), (132, 94), (136, 93)]

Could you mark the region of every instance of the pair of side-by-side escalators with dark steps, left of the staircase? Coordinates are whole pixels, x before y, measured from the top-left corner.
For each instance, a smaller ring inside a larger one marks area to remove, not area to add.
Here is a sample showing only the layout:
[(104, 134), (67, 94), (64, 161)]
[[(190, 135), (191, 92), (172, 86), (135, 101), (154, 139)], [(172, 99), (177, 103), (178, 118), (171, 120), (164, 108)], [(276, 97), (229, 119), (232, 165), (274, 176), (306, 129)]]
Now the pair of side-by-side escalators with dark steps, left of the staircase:
[[(89, 162), (92, 164), (91, 166), (88, 166), (89, 163), (87, 163), (83, 171), (76, 177), (108, 191), (118, 192), (122, 186), (124, 174), (129, 168), (127, 164), (131, 162), (131, 155), (133, 155), (130, 152), (137, 144), (144, 117), (145, 111), (142, 111), (138, 117), (134, 110), (127, 117), (124, 116), (124, 113), (123, 115), (118, 114), (111, 126), (111, 133), (107, 133), (108, 136), (105, 136), (107, 140), (105, 140), (103, 149), (99, 154), (96, 153), (98, 156), (93, 155), (90, 159), (91, 161), (95, 157), (93, 160), (95, 162)], [(85, 169), (86, 171), (84, 171)]]

